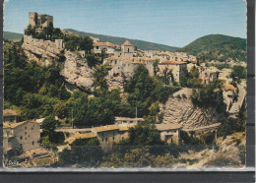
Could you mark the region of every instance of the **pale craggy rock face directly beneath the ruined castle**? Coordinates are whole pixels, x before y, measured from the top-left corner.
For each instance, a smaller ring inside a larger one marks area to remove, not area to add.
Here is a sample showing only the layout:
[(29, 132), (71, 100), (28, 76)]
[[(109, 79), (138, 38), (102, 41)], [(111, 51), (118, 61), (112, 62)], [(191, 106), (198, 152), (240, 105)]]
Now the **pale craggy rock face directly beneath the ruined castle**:
[(24, 35), (24, 52), (29, 60), (34, 60), (40, 66), (48, 66), (53, 60), (58, 60), (63, 50), (62, 39), (55, 41), (32, 38), (32, 35)]

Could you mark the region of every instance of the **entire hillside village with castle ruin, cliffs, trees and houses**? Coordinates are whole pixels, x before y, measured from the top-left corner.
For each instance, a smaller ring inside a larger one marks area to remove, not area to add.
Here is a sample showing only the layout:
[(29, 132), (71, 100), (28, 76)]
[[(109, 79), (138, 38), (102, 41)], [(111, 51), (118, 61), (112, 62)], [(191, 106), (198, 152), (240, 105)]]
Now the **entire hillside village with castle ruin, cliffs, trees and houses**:
[(244, 166), (244, 57), (116, 44), (53, 20), (30, 12), (22, 40), (5, 41), (5, 167)]

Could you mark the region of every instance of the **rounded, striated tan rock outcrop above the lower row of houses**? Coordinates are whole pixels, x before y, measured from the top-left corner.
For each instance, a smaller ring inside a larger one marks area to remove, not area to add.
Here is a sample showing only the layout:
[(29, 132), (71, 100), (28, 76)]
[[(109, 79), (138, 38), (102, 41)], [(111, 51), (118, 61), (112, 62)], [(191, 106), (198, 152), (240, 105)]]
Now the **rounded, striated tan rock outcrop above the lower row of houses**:
[(180, 123), (182, 128), (196, 128), (218, 122), (218, 115), (213, 109), (199, 108), (187, 98), (169, 97), (165, 104), (160, 104), (163, 113), (162, 123)]

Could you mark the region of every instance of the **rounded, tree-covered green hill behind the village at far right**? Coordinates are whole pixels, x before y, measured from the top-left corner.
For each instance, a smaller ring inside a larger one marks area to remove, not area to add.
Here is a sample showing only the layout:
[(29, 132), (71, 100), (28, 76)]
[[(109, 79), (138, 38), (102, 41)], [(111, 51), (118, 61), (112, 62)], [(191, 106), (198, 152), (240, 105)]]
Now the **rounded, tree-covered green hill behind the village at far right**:
[(205, 56), (206, 60), (224, 61), (227, 58), (246, 61), (246, 39), (223, 34), (210, 34), (197, 38), (177, 51)]

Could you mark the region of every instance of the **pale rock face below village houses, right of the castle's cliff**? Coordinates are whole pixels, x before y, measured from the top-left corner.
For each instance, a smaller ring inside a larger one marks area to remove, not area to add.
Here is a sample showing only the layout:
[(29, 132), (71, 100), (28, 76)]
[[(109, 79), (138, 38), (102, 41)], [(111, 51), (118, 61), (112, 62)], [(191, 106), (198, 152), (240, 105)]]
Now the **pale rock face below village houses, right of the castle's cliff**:
[[(69, 87), (77, 86), (85, 91), (92, 90), (93, 70), (88, 66), (86, 59), (79, 54), (65, 51), (66, 61), (64, 62), (61, 75), (69, 83)], [(68, 87), (68, 88), (69, 88)], [(69, 88), (71, 91), (75, 88)]]

